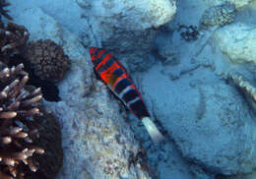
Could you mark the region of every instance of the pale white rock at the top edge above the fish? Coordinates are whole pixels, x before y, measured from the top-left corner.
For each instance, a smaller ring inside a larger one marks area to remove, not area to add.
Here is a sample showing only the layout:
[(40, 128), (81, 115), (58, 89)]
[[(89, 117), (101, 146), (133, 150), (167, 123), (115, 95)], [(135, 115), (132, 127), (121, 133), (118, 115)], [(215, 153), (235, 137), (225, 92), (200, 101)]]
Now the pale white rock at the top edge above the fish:
[(94, 14), (92, 18), (96, 19), (97, 23), (126, 30), (158, 28), (168, 23), (176, 11), (175, 2), (169, 0), (91, 0), (86, 2), (89, 12), (85, 13)]

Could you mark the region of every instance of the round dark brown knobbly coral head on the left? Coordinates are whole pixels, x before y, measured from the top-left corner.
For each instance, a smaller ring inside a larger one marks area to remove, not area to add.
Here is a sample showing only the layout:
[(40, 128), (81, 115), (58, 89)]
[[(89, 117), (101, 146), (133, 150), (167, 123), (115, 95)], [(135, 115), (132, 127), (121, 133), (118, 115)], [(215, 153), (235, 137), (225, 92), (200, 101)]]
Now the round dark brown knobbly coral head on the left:
[(70, 60), (62, 47), (51, 39), (29, 43), (27, 59), (37, 77), (54, 83), (62, 80), (70, 67)]

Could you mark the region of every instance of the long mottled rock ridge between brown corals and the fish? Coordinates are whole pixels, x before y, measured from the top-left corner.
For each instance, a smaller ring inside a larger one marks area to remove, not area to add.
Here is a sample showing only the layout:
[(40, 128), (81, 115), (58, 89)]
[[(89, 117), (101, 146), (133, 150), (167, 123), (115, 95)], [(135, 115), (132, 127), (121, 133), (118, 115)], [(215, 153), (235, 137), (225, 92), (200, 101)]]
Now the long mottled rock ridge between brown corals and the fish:
[[(148, 171), (133, 164), (139, 152), (131, 129), (120, 114), (118, 101), (96, 81), (89, 49), (37, 5), (16, 2), (15, 23), (24, 25), (30, 40), (50, 38), (63, 46), (71, 69), (58, 84), (61, 101), (44, 104), (61, 123), (64, 162), (59, 179), (149, 179)], [(23, 16), (18, 16), (18, 15)]]

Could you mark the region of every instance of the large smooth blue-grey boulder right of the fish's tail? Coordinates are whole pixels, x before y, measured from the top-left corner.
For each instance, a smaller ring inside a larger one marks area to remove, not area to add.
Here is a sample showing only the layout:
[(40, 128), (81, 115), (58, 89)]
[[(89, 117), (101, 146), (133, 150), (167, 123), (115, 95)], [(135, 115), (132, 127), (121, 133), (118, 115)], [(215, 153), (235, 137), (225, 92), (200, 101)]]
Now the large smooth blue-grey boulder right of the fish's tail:
[[(237, 89), (209, 69), (171, 83), (157, 72), (147, 78), (143, 86), (148, 86), (145, 93), (151, 90), (154, 114), (183, 157), (212, 174), (249, 173), (255, 168), (255, 115)], [(150, 84), (157, 79), (158, 86)]]

